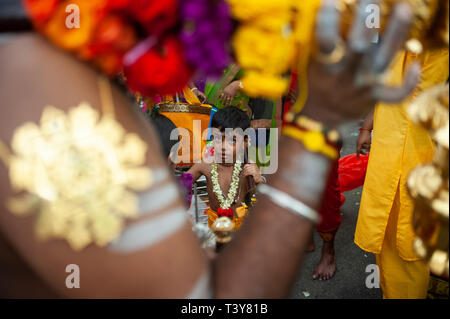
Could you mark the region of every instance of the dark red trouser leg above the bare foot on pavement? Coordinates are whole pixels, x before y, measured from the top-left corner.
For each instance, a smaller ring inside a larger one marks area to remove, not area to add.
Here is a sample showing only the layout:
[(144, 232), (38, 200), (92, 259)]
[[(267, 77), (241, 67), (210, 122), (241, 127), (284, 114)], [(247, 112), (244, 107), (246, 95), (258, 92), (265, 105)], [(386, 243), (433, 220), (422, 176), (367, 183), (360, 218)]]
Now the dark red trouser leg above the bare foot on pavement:
[(337, 231), (341, 225), (341, 188), (339, 185), (339, 162), (336, 161), (331, 168), (327, 188), (320, 209), (321, 223), (317, 226), (320, 233)]

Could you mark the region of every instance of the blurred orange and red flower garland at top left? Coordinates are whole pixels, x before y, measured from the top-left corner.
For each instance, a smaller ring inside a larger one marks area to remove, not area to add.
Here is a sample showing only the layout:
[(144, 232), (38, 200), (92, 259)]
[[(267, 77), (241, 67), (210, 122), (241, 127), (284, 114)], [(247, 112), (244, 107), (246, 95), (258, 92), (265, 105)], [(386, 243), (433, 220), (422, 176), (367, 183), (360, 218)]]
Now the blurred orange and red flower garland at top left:
[[(127, 81), (143, 95), (173, 94), (189, 81), (192, 70), (176, 37), (177, 0), (24, 0), (36, 27), (50, 41), (78, 58), (118, 75), (124, 58), (142, 41), (156, 39), (147, 52), (126, 65)], [(68, 5), (80, 11), (80, 28), (68, 28)], [(175, 35), (174, 35), (175, 34)], [(156, 64), (154, 64), (156, 63)], [(139, 72), (137, 72), (139, 69)]]

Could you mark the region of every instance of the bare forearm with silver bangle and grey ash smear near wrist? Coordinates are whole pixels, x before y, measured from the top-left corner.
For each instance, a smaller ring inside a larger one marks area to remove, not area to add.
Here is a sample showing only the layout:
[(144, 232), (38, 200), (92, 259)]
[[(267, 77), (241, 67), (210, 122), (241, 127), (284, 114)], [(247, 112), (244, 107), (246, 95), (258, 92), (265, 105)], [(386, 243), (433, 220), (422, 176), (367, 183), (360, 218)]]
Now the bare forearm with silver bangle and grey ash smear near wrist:
[[(283, 170), (269, 179), (269, 185), (318, 210), (331, 161), (290, 138), (282, 139), (280, 149)], [(313, 226), (260, 196), (243, 228), (213, 265), (215, 296), (286, 297)]]

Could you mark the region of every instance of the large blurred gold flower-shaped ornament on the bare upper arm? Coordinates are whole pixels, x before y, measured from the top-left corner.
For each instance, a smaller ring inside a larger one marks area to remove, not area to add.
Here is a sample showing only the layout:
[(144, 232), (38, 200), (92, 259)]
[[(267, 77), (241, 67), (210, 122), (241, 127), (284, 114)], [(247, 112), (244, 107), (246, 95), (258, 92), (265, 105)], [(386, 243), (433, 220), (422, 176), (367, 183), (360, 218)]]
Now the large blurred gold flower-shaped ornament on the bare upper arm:
[(7, 202), (17, 215), (38, 211), (41, 239), (65, 239), (74, 250), (105, 246), (137, 217), (138, 196), (150, 187), (143, 167), (147, 145), (127, 133), (108, 112), (103, 117), (82, 103), (66, 114), (44, 109), (40, 125), (25, 123), (13, 135), (7, 166), (11, 187), (20, 192)]

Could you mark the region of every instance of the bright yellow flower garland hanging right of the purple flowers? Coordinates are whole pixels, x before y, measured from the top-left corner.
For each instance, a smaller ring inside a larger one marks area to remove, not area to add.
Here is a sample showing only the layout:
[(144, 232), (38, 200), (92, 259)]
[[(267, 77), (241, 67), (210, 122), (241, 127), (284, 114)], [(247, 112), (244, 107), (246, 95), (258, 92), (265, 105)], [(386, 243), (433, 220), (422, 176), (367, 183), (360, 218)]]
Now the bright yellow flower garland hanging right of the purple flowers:
[(241, 25), (233, 37), (236, 59), (246, 71), (244, 91), (253, 97), (282, 96), (289, 80), (283, 74), (295, 57), (294, 18), (290, 1), (228, 0)]

